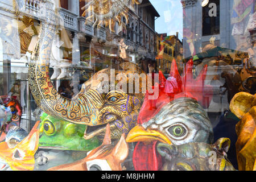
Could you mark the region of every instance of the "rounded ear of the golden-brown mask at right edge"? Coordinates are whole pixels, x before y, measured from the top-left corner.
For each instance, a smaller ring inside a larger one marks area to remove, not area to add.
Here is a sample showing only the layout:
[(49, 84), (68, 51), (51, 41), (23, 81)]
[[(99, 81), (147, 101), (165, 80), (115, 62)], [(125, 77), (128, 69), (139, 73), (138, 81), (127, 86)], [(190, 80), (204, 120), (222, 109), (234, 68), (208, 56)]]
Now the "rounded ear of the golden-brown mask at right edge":
[(230, 102), (230, 110), (234, 113), (238, 118), (242, 119), (243, 115), (245, 115), (251, 107), (256, 105), (256, 94), (252, 95), (246, 92), (240, 92), (234, 95)]

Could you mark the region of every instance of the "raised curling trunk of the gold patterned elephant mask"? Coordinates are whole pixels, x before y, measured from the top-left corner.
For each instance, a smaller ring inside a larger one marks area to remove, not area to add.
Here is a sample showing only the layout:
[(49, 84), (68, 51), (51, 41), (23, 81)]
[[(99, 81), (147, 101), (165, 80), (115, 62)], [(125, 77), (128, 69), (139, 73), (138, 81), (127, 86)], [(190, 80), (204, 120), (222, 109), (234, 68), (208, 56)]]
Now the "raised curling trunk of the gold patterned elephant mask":
[(51, 47), (53, 36), (56, 34), (55, 11), (52, 7), (51, 3), (46, 1), (46, 16), (41, 21), (38, 43), (29, 65), (30, 90), (36, 104), (47, 114), (72, 123), (86, 124), (94, 114), (91, 106), (92, 97), (88, 97), (89, 90), (84, 94), (82, 89), (76, 100), (69, 100), (57, 92), (49, 78)]

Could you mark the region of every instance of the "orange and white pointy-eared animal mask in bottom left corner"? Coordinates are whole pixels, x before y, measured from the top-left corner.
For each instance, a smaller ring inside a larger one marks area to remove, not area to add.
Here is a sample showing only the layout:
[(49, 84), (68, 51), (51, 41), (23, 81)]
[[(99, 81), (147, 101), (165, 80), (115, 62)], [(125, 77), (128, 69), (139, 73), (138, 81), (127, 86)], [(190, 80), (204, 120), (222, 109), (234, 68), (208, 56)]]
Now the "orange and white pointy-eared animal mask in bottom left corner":
[[(34, 155), (38, 150), (39, 122), (30, 131), (30, 134), (18, 144), (13, 142), (0, 143), (0, 165), (3, 171), (32, 171), (35, 166)], [(13, 145), (10, 145), (13, 144)]]

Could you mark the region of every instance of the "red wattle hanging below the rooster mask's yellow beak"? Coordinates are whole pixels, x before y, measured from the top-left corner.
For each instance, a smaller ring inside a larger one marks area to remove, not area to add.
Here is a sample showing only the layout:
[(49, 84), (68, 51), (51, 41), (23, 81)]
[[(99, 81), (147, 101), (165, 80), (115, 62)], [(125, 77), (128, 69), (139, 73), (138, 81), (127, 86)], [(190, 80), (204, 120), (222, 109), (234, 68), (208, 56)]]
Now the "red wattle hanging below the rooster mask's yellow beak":
[(157, 141), (150, 144), (138, 142), (133, 152), (135, 171), (158, 171), (162, 167), (162, 157), (156, 152)]

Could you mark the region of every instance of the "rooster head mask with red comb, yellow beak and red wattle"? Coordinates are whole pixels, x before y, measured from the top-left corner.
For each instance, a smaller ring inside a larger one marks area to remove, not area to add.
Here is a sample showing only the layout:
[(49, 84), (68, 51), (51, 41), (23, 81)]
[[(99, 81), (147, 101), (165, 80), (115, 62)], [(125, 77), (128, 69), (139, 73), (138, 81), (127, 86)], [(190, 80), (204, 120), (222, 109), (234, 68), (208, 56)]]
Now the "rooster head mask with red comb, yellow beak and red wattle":
[[(172, 61), (170, 77), (159, 71), (159, 84), (153, 91), (158, 98), (150, 99), (147, 92), (138, 116), (138, 125), (127, 135), (127, 142), (138, 142), (134, 148), (134, 169), (158, 170), (162, 159), (155, 151), (158, 141), (168, 144), (188, 142), (213, 143), (213, 129), (203, 107), (212, 98), (211, 87), (204, 85), (207, 65), (193, 78), (193, 61), (189, 60), (184, 76), (180, 76), (176, 61)], [(208, 93), (207, 97), (204, 97)], [(203, 107), (202, 107), (202, 106)]]

